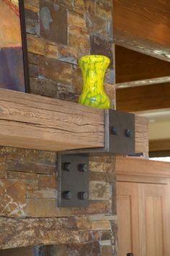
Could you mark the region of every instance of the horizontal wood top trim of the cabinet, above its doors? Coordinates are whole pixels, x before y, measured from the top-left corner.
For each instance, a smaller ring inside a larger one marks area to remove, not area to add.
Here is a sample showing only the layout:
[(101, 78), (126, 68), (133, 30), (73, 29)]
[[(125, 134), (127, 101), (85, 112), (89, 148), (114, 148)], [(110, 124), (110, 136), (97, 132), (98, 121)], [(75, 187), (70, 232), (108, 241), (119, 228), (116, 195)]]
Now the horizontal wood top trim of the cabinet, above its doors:
[(115, 174), (170, 178), (170, 163), (143, 158), (116, 157)]

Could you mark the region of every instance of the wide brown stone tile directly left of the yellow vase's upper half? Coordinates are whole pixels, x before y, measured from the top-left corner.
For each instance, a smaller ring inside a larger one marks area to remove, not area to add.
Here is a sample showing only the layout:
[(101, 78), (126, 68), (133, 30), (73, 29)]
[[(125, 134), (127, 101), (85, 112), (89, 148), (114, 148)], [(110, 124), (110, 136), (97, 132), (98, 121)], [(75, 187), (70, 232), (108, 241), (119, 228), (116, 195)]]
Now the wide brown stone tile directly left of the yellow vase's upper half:
[(55, 82), (71, 84), (71, 64), (41, 56), (39, 72), (42, 76)]

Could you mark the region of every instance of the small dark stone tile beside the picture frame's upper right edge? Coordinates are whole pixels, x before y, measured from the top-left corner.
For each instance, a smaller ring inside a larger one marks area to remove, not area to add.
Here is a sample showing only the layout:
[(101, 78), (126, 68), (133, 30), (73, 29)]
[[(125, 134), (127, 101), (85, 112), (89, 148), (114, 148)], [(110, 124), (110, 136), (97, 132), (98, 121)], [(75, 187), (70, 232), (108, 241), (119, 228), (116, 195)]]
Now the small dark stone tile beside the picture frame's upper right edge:
[(26, 31), (32, 35), (40, 35), (40, 20), (37, 12), (25, 9)]

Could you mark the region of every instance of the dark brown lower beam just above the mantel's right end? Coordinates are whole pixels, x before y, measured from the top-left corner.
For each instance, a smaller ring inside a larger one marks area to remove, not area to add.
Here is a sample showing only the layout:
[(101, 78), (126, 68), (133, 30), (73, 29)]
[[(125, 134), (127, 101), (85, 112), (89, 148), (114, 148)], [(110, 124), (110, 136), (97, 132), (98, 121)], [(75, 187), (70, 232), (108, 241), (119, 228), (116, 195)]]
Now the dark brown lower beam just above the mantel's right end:
[(170, 108), (170, 83), (120, 88), (116, 90), (116, 108), (135, 112)]

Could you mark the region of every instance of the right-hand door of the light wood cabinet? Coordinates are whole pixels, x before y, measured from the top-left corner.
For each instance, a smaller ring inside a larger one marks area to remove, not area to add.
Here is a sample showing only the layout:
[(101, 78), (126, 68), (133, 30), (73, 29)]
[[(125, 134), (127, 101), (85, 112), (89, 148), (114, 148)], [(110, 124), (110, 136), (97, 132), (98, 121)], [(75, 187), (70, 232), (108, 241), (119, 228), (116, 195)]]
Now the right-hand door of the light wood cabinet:
[(167, 186), (138, 184), (140, 252), (146, 256), (168, 256)]

